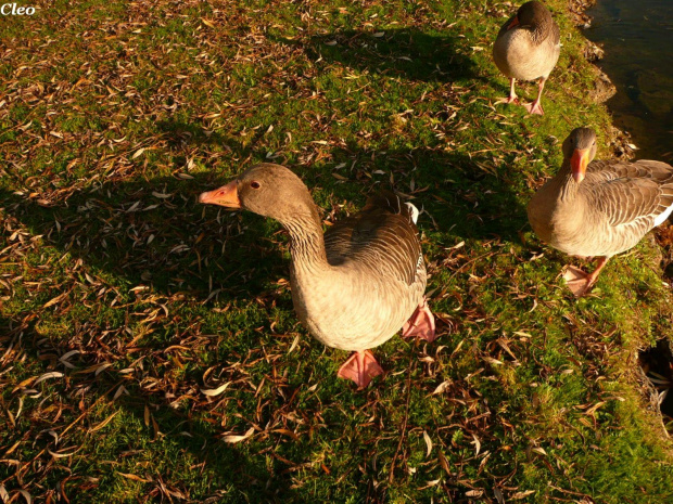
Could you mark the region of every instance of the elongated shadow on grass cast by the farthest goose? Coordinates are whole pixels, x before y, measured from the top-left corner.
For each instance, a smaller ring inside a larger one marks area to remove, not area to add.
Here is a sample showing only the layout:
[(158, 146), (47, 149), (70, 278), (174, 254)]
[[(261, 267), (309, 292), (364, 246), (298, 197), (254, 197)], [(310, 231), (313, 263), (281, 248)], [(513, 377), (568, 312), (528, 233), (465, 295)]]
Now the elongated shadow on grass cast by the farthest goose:
[(480, 78), (466, 39), (453, 34), (427, 34), (416, 28), (371, 33), (343, 30), (307, 41), (270, 35), (271, 40), (300, 46), (313, 61), (341, 63), (360, 72), (415, 81), (450, 82)]

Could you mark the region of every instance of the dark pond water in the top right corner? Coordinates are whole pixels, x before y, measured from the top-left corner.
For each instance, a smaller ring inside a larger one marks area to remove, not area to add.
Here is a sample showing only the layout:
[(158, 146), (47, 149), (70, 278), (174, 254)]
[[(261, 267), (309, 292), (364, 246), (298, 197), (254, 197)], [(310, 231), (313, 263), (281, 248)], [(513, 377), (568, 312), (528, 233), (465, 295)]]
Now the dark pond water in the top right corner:
[(598, 0), (586, 37), (602, 44), (598, 64), (617, 87), (608, 101), (639, 159), (673, 163), (673, 0)]

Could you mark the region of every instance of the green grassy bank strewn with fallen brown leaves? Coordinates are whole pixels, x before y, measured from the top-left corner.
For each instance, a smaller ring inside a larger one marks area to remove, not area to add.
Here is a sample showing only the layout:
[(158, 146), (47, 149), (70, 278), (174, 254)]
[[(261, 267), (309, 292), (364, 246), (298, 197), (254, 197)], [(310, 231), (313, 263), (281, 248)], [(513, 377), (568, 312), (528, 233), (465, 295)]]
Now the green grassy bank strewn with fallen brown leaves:
[[(584, 40), (548, 3), (563, 47), (544, 117), (496, 104), (511, 7), (492, 0), (58, 1), (4, 18), (0, 497), (671, 501), (634, 373), (670, 332), (656, 248), (575, 300), (567, 258), (526, 224), (572, 128), (609, 155)], [(378, 348), (389, 373), (365, 391), (299, 325), (279, 225), (195, 202), (265, 159), (326, 220), (378, 188), (426, 210), (441, 337)]]

